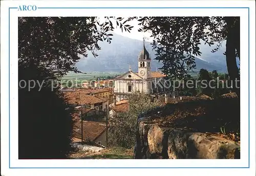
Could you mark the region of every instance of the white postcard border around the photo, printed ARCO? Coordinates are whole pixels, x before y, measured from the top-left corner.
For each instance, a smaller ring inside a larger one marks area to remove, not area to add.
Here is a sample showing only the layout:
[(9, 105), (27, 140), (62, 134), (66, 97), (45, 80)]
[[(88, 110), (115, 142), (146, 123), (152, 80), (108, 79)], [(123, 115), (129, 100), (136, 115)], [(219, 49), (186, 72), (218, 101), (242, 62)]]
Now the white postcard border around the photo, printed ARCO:
[[(1, 160), (5, 171), (9, 168), (9, 111), (8, 111), (8, 7), (36, 5), (37, 7), (250, 7), (250, 137), (251, 161), (255, 154), (255, 8), (252, 1), (33, 1), (1, 2)], [(10, 104), (11, 104), (11, 167), (247, 167), (248, 166), (248, 12), (247, 9), (37, 9), (22, 12), (11, 9), (10, 13)], [(124, 15), (125, 14), (125, 15)], [(240, 160), (18, 160), (18, 94), (17, 94), (17, 17), (18, 16), (241, 16), (241, 159)], [(4, 17), (4, 18), (3, 18)], [(253, 21), (254, 19), (254, 21)], [(3, 145), (3, 143), (5, 145)], [(8, 169), (13, 173), (22, 169)], [(24, 171), (27, 169), (23, 169)], [(33, 170), (33, 169), (32, 169)], [(40, 169), (46, 171), (49, 169)], [(51, 169), (50, 169), (51, 170)], [(55, 169), (54, 169), (55, 170)], [(70, 170), (70, 169), (66, 169)], [(72, 169), (71, 169), (72, 170)], [(79, 170), (79, 169), (78, 169)], [(81, 169), (83, 170), (83, 169)], [(112, 170), (112, 169), (109, 169)], [(125, 169), (129, 170), (129, 169)], [(136, 169), (138, 170), (138, 169)], [(135, 171), (136, 171), (135, 170)], [(154, 169), (155, 170), (155, 169)], [(174, 169), (179, 173), (181, 169)], [(190, 169), (185, 169), (187, 172)], [(194, 169), (195, 170), (195, 169)], [(217, 169), (210, 169), (217, 170)], [(222, 175), (224, 169), (222, 170)], [(245, 173), (244, 169), (243, 173)], [(173, 172), (172, 171), (172, 172)], [(18, 172), (21, 173), (21, 172)], [(33, 172), (32, 172), (33, 173)], [(67, 174), (64, 170), (63, 174)], [(26, 172), (26, 175), (28, 172)], [(73, 174), (73, 173), (72, 173)], [(215, 173), (216, 174), (216, 173)], [(20, 175), (20, 174), (18, 174)], [(207, 171), (207, 175), (211, 172)], [(249, 174), (246, 174), (249, 175)]]

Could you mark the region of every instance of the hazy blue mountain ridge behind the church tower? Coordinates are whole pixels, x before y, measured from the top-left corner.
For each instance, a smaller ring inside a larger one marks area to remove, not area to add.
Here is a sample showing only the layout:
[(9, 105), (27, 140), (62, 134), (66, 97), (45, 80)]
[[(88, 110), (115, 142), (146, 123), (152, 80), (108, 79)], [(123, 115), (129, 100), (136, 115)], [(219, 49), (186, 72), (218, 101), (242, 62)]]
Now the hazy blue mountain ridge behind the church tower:
[[(114, 34), (113, 40), (109, 44), (105, 41), (99, 42), (101, 47), (97, 51), (98, 57), (94, 58), (90, 53), (87, 58), (81, 57), (81, 60), (76, 63), (77, 68), (83, 72), (126, 72), (131, 65), (132, 70), (138, 71), (138, 55), (143, 47), (141, 40), (131, 39), (118, 34)], [(152, 51), (150, 42), (145, 42), (145, 47), (152, 58), (152, 71), (162, 67), (162, 63), (155, 60), (155, 52)], [(202, 56), (196, 57), (197, 70), (201, 68), (209, 71), (217, 70), (219, 72), (226, 72), (226, 61), (224, 47), (216, 53), (211, 53), (214, 47), (200, 46)]]

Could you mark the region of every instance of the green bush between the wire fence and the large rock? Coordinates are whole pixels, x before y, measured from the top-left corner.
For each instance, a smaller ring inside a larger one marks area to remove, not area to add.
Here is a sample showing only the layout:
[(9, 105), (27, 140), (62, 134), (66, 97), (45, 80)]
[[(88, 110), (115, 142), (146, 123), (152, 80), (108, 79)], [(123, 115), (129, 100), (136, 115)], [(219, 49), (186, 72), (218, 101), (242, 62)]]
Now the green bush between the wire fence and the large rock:
[(110, 119), (109, 145), (132, 148), (135, 145), (137, 118), (142, 112), (161, 106), (160, 99), (135, 92), (129, 96), (129, 111)]

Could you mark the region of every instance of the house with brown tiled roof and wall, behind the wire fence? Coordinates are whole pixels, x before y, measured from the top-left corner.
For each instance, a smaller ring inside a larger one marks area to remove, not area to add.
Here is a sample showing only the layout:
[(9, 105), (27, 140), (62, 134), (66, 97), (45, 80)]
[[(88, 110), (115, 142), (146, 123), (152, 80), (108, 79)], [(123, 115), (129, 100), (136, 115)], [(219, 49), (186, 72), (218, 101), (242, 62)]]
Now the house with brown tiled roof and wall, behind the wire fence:
[(106, 124), (76, 120), (73, 125), (73, 142), (91, 142), (106, 146)]

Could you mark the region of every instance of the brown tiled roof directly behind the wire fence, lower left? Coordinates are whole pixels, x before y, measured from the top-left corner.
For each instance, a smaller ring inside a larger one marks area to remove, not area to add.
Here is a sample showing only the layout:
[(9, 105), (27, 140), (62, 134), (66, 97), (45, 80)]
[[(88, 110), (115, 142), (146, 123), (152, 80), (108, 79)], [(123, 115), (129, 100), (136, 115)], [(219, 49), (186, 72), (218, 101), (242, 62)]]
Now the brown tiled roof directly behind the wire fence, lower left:
[[(106, 124), (95, 121), (82, 121), (83, 140), (96, 140), (106, 130)], [(75, 138), (82, 138), (81, 135), (81, 120), (77, 120), (73, 126), (73, 135)]]

